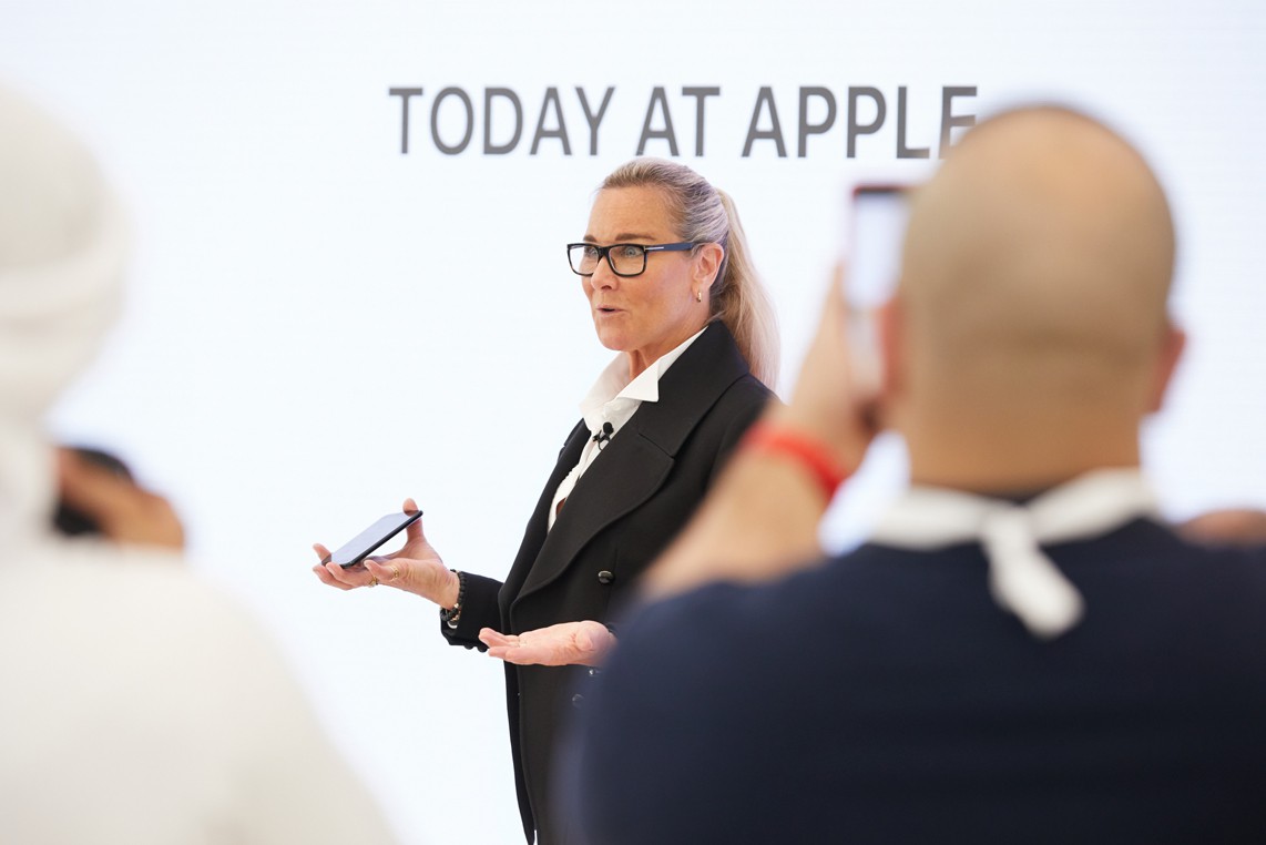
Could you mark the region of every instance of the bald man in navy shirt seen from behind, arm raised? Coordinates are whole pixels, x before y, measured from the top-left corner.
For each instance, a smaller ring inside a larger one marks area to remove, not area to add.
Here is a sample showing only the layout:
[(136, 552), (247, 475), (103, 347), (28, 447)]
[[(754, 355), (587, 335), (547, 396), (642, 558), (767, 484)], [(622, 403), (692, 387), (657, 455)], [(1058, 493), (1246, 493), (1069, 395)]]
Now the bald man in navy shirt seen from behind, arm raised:
[(1180, 538), (1138, 470), (1172, 261), (1100, 124), (971, 130), (880, 326), (909, 492), (796, 564), (870, 438), (836, 291), (793, 402), (647, 575), (729, 583), (620, 627), (568, 766), (589, 840), (1266, 841), (1266, 550)]

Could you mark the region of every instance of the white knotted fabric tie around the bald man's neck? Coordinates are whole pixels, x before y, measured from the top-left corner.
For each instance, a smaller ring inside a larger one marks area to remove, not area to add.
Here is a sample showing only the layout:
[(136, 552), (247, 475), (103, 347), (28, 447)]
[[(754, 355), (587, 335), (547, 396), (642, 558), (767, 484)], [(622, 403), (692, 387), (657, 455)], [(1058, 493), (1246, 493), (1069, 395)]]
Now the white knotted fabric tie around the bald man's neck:
[(1084, 603), (1038, 546), (1098, 537), (1158, 512), (1138, 467), (1094, 470), (1024, 504), (913, 486), (879, 521), (871, 541), (917, 550), (980, 541), (994, 600), (1034, 636), (1050, 639), (1077, 623)]

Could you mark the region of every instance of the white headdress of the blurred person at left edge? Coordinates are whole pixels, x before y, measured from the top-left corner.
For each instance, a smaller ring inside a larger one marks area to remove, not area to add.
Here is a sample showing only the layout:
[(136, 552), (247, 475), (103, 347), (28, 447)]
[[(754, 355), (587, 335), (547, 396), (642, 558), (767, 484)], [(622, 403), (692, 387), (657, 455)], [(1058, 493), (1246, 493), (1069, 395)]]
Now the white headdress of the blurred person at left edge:
[(114, 323), (127, 251), (92, 156), (0, 86), (0, 542), (48, 524), (43, 417)]

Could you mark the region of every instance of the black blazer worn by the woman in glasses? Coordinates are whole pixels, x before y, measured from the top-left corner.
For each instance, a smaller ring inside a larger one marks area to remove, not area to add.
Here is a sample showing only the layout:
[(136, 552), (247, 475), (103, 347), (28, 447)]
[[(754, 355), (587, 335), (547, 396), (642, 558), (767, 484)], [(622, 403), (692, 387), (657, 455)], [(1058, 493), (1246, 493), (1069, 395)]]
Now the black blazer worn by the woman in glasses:
[[(528, 521), (505, 581), (467, 573), (453, 645), (485, 650), (479, 631), (520, 633), (560, 622), (605, 621), (637, 576), (703, 499), (725, 457), (761, 413), (770, 390), (749, 371), (729, 329), (711, 323), (660, 380), (567, 497), (553, 530), (548, 509), (589, 440), (581, 421), (567, 436)], [(515, 787), (528, 841), (562, 841), (546, 808), (560, 721), (584, 706), (584, 666), (506, 664), (506, 711)], [(580, 692), (576, 692), (577, 688)]]

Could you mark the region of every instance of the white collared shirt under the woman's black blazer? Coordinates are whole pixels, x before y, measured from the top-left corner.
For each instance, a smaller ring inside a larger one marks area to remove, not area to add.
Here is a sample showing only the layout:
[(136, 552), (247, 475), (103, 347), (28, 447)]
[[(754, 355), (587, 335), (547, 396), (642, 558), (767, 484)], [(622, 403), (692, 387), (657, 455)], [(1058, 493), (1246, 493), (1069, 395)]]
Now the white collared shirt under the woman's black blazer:
[[(623, 352), (598, 376), (598, 381), (589, 389), (589, 394), (580, 403), (580, 413), (585, 418), (585, 426), (591, 436), (603, 432), (604, 424), (610, 424), (611, 431), (605, 441), (615, 437), (624, 423), (633, 417), (633, 413), (642, 407), (643, 402), (660, 400), (660, 379), (668, 371), (668, 367), (681, 357), (681, 353), (690, 348), (700, 334), (706, 331), (706, 326), (685, 341), (656, 359), (651, 366), (629, 380), (629, 360)], [(571, 495), (576, 488), (576, 481), (585, 474), (589, 465), (598, 460), (599, 452), (605, 448), (605, 442), (599, 443), (594, 437), (585, 443), (585, 450), (580, 454), (580, 461), (571, 473), (558, 484), (553, 500), (549, 503), (549, 528), (553, 528), (555, 519), (558, 518), (558, 504)]]

